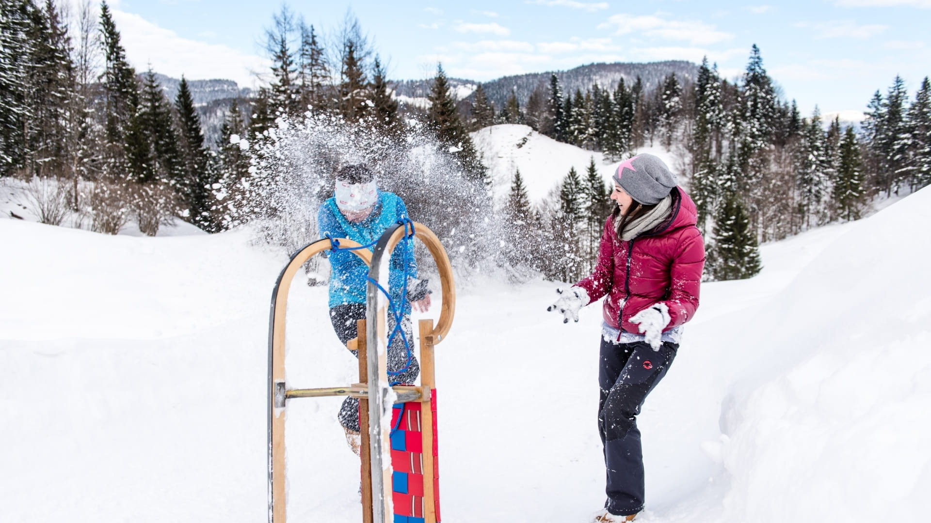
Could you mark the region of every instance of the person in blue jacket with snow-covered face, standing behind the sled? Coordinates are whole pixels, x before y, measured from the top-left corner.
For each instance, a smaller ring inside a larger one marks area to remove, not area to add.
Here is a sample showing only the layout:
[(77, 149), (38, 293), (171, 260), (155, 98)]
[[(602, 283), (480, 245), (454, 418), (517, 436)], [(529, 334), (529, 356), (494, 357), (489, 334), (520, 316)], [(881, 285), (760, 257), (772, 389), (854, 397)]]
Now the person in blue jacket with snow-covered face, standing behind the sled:
[[(320, 237), (349, 238), (361, 245), (378, 240), (391, 225), (408, 218), (407, 208), (397, 194), (379, 191), (374, 173), (363, 165), (351, 165), (336, 173), (336, 187), (317, 215)], [(374, 246), (369, 248), (374, 250)], [(365, 317), (366, 288), (369, 267), (348, 250), (331, 250), (329, 254), (330, 319), (340, 342), (345, 344), (357, 336), (356, 322)], [(406, 261), (406, 262), (405, 262)], [(405, 265), (407, 281), (404, 281)], [(413, 258), (412, 242), (401, 242), (391, 255), (388, 264), (388, 294), (396, 307), (401, 308), (404, 330), (410, 349), (413, 349), (411, 328), (412, 304), (418, 311), (430, 307), (430, 294), (426, 279), (417, 279), (417, 263)], [(407, 300), (401, 303), (403, 288)], [(395, 319), (388, 315), (387, 329), (395, 328)], [(413, 384), (420, 373), (417, 360), (404, 346), (400, 335), (388, 347), (388, 378), (392, 384)], [(347, 397), (340, 409), (339, 420), (346, 439), (358, 454), (359, 424), (358, 399)]]

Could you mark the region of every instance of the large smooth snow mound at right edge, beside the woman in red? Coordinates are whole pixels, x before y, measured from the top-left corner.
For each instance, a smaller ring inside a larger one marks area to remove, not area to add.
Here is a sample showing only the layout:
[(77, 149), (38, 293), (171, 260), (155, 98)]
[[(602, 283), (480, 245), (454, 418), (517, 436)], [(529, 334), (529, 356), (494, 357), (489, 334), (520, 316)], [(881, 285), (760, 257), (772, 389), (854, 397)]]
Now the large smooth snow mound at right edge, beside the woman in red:
[(851, 224), (728, 342), (725, 521), (927, 520), (928, 222), (924, 189)]

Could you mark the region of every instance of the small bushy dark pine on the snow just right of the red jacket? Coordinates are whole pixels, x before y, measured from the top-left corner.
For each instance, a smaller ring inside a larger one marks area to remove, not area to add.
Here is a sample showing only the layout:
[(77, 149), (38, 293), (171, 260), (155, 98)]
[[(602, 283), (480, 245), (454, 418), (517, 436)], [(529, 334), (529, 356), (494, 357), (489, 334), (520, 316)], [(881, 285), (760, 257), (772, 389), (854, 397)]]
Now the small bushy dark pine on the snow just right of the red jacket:
[(728, 194), (715, 218), (712, 275), (717, 280), (744, 279), (762, 269), (756, 235), (736, 194)]

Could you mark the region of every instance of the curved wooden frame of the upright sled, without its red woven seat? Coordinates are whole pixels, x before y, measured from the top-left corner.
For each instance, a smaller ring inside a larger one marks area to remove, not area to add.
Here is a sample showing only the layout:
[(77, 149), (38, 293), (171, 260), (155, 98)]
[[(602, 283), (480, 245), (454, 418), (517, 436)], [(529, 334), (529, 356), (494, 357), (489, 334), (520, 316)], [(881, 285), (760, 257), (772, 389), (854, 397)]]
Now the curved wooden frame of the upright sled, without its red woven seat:
[[(433, 346), (443, 339), (452, 327), (452, 317), (455, 313), (455, 286), (452, 278), (452, 264), (437, 235), (421, 223), (412, 222), (415, 237), (419, 238), (430, 251), (439, 269), (440, 285), (442, 287), (442, 305), (440, 309), (437, 328), (433, 327), (432, 319), (421, 320), (420, 349), (421, 349), (421, 386), (420, 387), (394, 387), (395, 400), (400, 401), (429, 401), (430, 393), (435, 386), (433, 367)], [(382, 259), (387, 253), (390, 259), (391, 252), (398, 245), (405, 234), (405, 228), (396, 224), (382, 235), (374, 252), (366, 248), (353, 250), (359, 259), (370, 266), (372, 279), (383, 283), (379, 278), (379, 268)], [(339, 238), (343, 248), (361, 247), (357, 242)], [(391, 516), (391, 471), (390, 446), (383, 449), (383, 441), (388, 440), (389, 430), (379, 431), (382, 426), (381, 417), (387, 414), (390, 420), (391, 405), (387, 410), (376, 406), (385, 404), (388, 396), (387, 369), (385, 367), (386, 333), (385, 333), (385, 300), (379, 298), (380, 291), (371, 282), (367, 289), (366, 320), (359, 320), (359, 336), (351, 340), (350, 347), (357, 343), (359, 355), (359, 378), (368, 374), (368, 383), (357, 383), (346, 387), (332, 387), (327, 389), (287, 389), (285, 383), (285, 319), (287, 315), (288, 294), (290, 284), (298, 269), (316, 254), (329, 250), (331, 240), (324, 238), (313, 242), (291, 256), (290, 262), (278, 275), (275, 288), (272, 292), (272, 305), (268, 329), (268, 521), (269, 523), (286, 523), (287, 499), (285, 494), (285, 404), (292, 397), (315, 396), (355, 396), (360, 398), (361, 407), (366, 410), (368, 404), (368, 419), (359, 420), (362, 425), (362, 464), (363, 464), (363, 521), (388, 521)], [(374, 270), (372, 261), (376, 262)], [(386, 271), (385, 271), (386, 273)], [(384, 275), (386, 280), (387, 274)], [(385, 281), (383, 287), (387, 288)], [(376, 340), (376, 351), (371, 351), (366, 357), (366, 339)], [(381, 357), (379, 357), (381, 355)], [(368, 401), (367, 398), (373, 398)], [(425, 409), (425, 427), (432, 426), (428, 419), (432, 414)], [(371, 429), (369, 428), (371, 427)], [(427, 439), (429, 438), (429, 441)], [(432, 431), (424, 431), (424, 448), (432, 449)], [(371, 461), (370, 461), (371, 460)], [(424, 469), (433, 471), (432, 452), (424, 453)], [(374, 464), (375, 466), (371, 466)], [(427, 466), (429, 465), (429, 466)], [(366, 474), (370, 472), (371, 474)], [(379, 473), (381, 471), (381, 473)], [(368, 476), (368, 477), (366, 477)], [(371, 478), (370, 480), (367, 480)], [(377, 503), (372, 503), (373, 492), (378, 492)], [(433, 504), (433, 481), (425, 481), (425, 516), (428, 523), (436, 521)], [(427, 502), (430, 503), (427, 503)]]

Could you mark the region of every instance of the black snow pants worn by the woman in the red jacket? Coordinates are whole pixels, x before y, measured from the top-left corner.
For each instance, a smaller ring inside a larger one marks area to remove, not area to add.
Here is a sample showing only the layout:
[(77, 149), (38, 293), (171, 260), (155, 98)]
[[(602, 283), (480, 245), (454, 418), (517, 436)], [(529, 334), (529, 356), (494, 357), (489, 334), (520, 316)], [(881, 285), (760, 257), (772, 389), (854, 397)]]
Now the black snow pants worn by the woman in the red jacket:
[(598, 429), (604, 444), (608, 501), (616, 516), (643, 510), (643, 453), (637, 415), (643, 401), (676, 357), (679, 345), (664, 342), (658, 351), (647, 342), (614, 343), (601, 338)]

